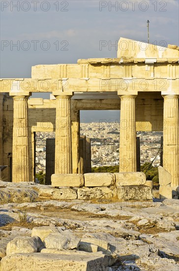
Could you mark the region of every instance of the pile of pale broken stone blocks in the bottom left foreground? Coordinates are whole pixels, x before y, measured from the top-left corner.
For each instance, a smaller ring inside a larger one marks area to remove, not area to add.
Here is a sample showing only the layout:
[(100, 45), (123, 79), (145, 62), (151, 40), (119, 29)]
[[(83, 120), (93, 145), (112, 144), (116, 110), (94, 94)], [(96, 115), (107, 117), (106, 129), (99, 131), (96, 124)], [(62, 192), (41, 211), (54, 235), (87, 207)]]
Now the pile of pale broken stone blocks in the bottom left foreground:
[(119, 261), (116, 247), (103, 234), (80, 239), (70, 230), (46, 226), (33, 228), (31, 237), (15, 237), (1, 256), (1, 271), (109, 271)]

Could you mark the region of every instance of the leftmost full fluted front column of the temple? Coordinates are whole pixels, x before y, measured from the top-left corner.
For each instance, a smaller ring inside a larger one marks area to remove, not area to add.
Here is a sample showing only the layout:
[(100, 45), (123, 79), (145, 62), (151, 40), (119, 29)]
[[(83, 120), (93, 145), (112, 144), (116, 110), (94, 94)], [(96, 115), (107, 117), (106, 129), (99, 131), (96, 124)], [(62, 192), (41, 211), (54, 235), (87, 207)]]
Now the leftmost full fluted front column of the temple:
[(12, 181), (30, 181), (29, 134), (28, 134), (28, 98), (14, 96)]

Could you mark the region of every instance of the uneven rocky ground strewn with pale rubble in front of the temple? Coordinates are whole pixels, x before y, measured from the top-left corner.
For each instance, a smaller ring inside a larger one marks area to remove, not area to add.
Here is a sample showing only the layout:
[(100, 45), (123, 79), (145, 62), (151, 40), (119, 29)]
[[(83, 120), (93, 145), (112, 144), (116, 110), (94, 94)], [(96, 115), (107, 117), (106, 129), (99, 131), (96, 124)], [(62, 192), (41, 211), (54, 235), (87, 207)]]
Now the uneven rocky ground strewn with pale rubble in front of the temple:
[(18, 259), (31, 271), (179, 271), (179, 200), (58, 201), (39, 197), (44, 187), (0, 182), (1, 271), (28, 270)]

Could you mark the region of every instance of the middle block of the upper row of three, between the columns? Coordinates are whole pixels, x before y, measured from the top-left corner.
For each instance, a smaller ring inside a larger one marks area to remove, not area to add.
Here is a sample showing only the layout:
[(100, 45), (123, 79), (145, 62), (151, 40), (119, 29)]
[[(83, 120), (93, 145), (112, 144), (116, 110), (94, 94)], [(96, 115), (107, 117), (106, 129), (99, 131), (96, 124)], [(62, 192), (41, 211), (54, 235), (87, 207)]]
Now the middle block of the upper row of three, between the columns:
[(113, 173), (85, 173), (85, 186), (111, 186), (115, 183), (115, 175)]

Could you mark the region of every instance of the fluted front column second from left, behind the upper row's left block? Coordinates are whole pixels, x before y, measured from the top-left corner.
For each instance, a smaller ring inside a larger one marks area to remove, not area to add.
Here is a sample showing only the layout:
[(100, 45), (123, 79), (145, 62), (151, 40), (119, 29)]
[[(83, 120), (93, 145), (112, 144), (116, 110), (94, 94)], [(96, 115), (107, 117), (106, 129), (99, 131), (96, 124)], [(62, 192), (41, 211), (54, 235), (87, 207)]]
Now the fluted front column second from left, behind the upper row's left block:
[(70, 99), (56, 96), (55, 174), (72, 173)]

